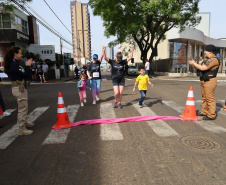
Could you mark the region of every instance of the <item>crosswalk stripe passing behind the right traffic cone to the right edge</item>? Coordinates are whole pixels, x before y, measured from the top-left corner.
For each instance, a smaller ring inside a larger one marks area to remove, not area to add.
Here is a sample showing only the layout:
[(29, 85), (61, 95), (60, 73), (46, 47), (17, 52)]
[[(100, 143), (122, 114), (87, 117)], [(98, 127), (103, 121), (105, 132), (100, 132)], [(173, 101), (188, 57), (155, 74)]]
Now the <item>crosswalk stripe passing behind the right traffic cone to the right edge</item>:
[[(162, 101), (164, 104), (166, 104), (167, 106), (173, 108), (174, 110), (176, 110), (178, 113), (183, 114), (184, 113), (184, 108), (178, 104), (176, 104), (173, 101)], [(199, 125), (200, 127), (204, 128), (205, 130), (214, 132), (214, 133), (225, 133), (226, 129), (220, 126), (217, 126), (215, 123), (211, 122), (211, 121), (194, 121), (197, 125)]]

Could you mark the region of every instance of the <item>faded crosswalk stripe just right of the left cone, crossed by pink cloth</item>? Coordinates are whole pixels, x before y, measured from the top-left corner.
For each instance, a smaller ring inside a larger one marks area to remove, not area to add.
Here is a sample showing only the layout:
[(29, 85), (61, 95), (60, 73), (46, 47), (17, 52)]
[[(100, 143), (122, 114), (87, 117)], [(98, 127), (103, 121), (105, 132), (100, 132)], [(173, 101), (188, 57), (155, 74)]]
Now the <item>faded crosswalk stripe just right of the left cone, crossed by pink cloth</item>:
[[(78, 104), (67, 106), (67, 114), (70, 122), (74, 122), (78, 109), (79, 109)], [(46, 137), (45, 141), (42, 143), (42, 145), (65, 143), (70, 130), (71, 128), (60, 129), (60, 130), (52, 129), (49, 135)]]

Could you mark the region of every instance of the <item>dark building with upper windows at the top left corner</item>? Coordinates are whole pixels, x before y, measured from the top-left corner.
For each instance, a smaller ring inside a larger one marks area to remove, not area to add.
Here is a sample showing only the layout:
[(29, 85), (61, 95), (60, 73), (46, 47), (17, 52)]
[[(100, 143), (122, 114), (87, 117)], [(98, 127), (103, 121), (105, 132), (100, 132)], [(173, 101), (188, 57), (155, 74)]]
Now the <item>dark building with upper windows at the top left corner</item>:
[(27, 49), (30, 44), (39, 44), (36, 19), (18, 9), (0, 14), (0, 65), (10, 47)]

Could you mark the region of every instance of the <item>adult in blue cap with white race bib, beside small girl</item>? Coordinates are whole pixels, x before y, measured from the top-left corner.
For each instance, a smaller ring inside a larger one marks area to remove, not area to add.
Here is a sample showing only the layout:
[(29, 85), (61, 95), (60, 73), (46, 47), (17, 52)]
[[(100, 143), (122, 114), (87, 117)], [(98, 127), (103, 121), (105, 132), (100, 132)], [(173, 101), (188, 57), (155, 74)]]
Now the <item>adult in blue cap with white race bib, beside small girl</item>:
[(103, 59), (103, 54), (98, 60), (98, 55), (93, 55), (93, 62), (88, 65), (87, 68), (87, 76), (90, 80), (90, 84), (92, 86), (92, 94), (93, 94), (93, 104), (96, 104), (96, 101), (99, 101), (99, 94), (101, 88), (101, 71), (100, 64)]

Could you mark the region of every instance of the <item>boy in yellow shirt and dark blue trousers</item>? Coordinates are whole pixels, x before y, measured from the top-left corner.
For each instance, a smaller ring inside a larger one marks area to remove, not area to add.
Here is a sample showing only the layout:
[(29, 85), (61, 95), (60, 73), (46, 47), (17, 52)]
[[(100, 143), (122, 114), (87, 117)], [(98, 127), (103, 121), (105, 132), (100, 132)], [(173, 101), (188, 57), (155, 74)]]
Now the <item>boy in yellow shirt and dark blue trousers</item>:
[(140, 75), (136, 79), (136, 82), (133, 87), (133, 92), (135, 92), (136, 85), (139, 84), (138, 89), (141, 94), (141, 98), (139, 100), (139, 107), (141, 108), (143, 106), (143, 101), (146, 97), (147, 84), (149, 84), (151, 87), (153, 87), (153, 84), (150, 82), (149, 76), (147, 74), (145, 74), (144, 66), (139, 67), (139, 73), (140, 73)]

